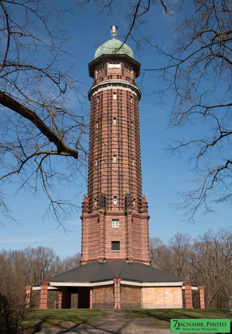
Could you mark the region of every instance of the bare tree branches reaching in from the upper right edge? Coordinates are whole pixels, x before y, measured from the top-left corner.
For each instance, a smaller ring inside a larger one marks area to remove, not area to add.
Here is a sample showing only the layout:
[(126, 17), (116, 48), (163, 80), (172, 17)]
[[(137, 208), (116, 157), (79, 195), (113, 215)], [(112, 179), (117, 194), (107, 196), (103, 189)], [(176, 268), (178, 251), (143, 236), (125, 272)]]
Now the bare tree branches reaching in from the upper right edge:
[(232, 4), (228, 0), (182, 1), (179, 9), (186, 16), (176, 22), (173, 48), (153, 45), (166, 58), (166, 65), (145, 72), (161, 75), (165, 88), (154, 93), (162, 104), (167, 93), (174, 94), (170, 126), (205, 124), (199, 137), (175, 140), (169, 147), (174, 155), (188, 149), (190, 165), (198, 174), (196, 188), (181, 192), (183, 201), (176, 206), (194, 221), (199, 207), (205, 213), (212, 211), (209, 199), (232, 203)]

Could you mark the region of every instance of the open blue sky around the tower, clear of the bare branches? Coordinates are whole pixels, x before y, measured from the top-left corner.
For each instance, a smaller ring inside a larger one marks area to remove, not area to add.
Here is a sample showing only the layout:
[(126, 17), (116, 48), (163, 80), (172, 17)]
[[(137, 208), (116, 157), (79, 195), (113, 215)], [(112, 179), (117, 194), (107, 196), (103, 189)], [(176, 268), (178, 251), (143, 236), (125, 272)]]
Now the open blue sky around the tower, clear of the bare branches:
[[(57, 3), (59, 4), (59, 1)], [(72, 35), (72, 39), (66, 43), (66, 48), (77, 58), (67, 57), (65, 65), (74, 63), (73, 74), (82, 82), (81, 90), (84, 95), (87, 95), (93, 81), (88, 74), (88, 62), (94, 58), (97, 46), (110, 38), (110, 26), (113, 22), (118, 26), (118, 37), (122, 40), (120, 36), (124, 35), (126, 24), (124, 5), (125, 2), (115, 7), (115, 15), (112, 18), (105, 14), (96, 15), (97, 9), (93, 5), (81, 8), (75, 2), (67, 1), (67, 6), (72, 7), (73, 15), (68, 14), (60, 24)], [(172, 44), (171, 30), (172, 27), (159, 7), (151, 10), (147, 22), (141, 26), (141, 34), (152, 36), (156, 43), (163, 43), (165, 47)], [(132, 50), (135, 49), (133, 41), (127, 41), (127, 44)], [(136, 53), (135, 59), (141, 63), (141, 69), (154, 68), (163, 62), (162, 57), (156, 55), (149, 45), (144, 46), (140, 54)], [(140, 82), (140, 78), (137, 82)], [(159, 236), (167, 242), (177, 232), (190, 233), (192, 237), (196, 237), (209, 228), (217, 230), (220, 227), (231, 226), (230, 210), (226, 204), (212, 205), (217, 214), (202, 215), (199, 211), (196, 224), (182, 222), (184, 212), (172, 208), (171, 204), (178, 202), (175, 191), (190, 189), (191, 184), (188, 180), (194, 179), (195, 175), (187, 166), (188, 154), (182, 159), (173, 158), (169, 157), (163, 148), (168, 146), (171, 139), (191, 138), (200, 133), (203, 125), (199, 122), (191, 128), (168, 128), (167, 112), (161, 109), (155, 97), (150, 95), (152, 91), (158, 90), (160, 85), (161, 82), (156, 77), (147, 74), (143, 79), (145, 95), (142, 95), (139, 103), (142, 187), (143, 193), (146, 193), (151, 217), (150, 236)], [(167, 94), (166, 109), (171, 109), (171, 101), (172, 96)], [(87, 104), (84, 108), (87, 110), (89, 107)], [(79, 206), (83, 194), (87, 193), (86, 188), (83, 188), (81, 195), (76, 196), (80, 190), (74, 187), (63, 187), (61, 191), (65, 198), (73, 200)], [(46, 198), (34, 198), (31, 193), (22, 192), (18, 196), (9, 197), (7, 203), (19, 224), (5, 223), (6, 229), (0, 231), (0, 248), (19, 249), (29, 245), (44, 245), (53, 247), (61, 258), (81, 250), (81, 212), (72, 221), (66, 222), (65, 227), (70, 231), (66, 235), (62, 228), (57, 228), (55, 222), (39, 220), (48, 203)]]

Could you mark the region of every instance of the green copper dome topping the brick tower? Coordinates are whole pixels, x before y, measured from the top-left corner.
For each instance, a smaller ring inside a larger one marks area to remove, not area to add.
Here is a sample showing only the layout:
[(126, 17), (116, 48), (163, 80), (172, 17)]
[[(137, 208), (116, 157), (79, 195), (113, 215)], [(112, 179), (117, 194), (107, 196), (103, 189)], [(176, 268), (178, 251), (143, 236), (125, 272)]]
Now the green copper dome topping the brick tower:
[[(127, 54), (129, 57), (134, 59), (134, 54), (131, 50), (131, 48), (123, 44), (119, 39), (113, 38), (109, 39), (107, 42), (99, 46), (97, 49), (94, 59), (97, 59), (98, 57), (102, 56), (103, 54)], [(121, 47), (121, 48), (120, 48)], [(120, 49), (119, 49), (120, 48)], [(115, 52), (117, 49), (119, 49), (117, 52)]]

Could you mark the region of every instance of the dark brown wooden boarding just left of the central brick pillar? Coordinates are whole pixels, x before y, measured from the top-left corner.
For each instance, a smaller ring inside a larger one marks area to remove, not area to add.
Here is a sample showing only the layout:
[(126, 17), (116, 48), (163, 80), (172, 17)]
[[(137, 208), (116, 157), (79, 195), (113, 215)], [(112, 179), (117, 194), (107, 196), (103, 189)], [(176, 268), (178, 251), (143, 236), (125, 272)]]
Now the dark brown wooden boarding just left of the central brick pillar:
[(113, 285), (93, 287), (93, 309), (113, 309)]

